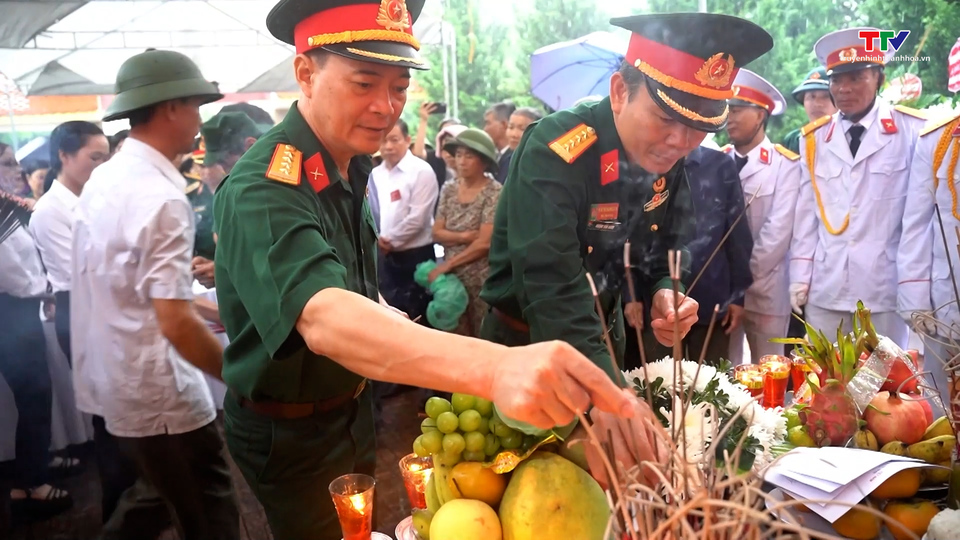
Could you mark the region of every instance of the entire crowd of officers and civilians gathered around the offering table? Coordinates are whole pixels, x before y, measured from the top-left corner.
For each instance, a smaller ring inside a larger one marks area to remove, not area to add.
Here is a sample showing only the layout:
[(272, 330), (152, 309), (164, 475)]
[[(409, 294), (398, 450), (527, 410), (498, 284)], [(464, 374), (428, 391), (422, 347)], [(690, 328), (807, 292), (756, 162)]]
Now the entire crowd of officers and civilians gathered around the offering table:
[[(911, 331), (943, 335), (917, 312), (956, 318), (937, 311), (957, 254), (936, 241), (933, 209), (960, 225), (960, 120), (880, 101), (886, 59), (847, 54), (857, 29), (818, 42), (821, 66), (792, 92), (810, 123), (783, 144), (766, 127), (787, 100), (743, 67), (772, 39), (707, 14), (613, 21), (632, 37), (609, 97), (548, 115), (493, 103), (483, 126), (445, 118), (429, 139), (444, 104), (422, 104), (414, 131), (399, 118), (424, 67), (409, 28), (421, 3), (335, 4), (270, 14), (302, 90), (277, 125), (250, 104), (201, 122), (216, 85), (149, 50), (121, 67), (104, 117), (128, 131), (64, 123), (25, 167), (0, 144), (0, 190), (32, 210), (0, 243), (13, 515), (72, 504), (52, 479), (80, 464), (51, 455), (50, 347), (89, 415), (103, 538), (171, 524), (238, 538), (229, 451), (275, 538), (335, 539), (329, 480), (373, 472), (381, 394), (368, 380), (479, 395), (542, 427), (592, 402), (595, 422), (624, 430), (656, 420), (614, 384), (621, 370), (676, 341), (688, 358), (757, 362), (785, 353), (771, 339), (803, 334), (791, 313), (831, 335), (863, 301), (902, 347)], [(392, 33), (306, 39), (330, 31), (315, 18), (328, 9)], [(714, 41), (722, 51), (705, 50)], [(702, 69), (676, 68), (690, 62)], [(724, 148), (706, 138), (720, 131)], [(429, 262), (428, 283), (455, 276), (468, 297), (452, 332), (430, 325), (415, 278)]]

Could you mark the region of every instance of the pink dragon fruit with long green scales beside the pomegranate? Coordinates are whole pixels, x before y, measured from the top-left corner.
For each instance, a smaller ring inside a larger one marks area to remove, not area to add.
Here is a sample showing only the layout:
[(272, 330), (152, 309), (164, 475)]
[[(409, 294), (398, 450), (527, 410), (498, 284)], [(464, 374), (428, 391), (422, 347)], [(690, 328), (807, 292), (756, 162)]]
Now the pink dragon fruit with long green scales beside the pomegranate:
[[(837, 341), (802, 321), (804, 339), (777, 340), (800, 346), (807, 362), (819, 368), (818, 385), (812, 386), (813, 397), (799, 412), (800, 424), (819, 447), (843, 446), (859, 429), (860, 411), (847, 385), (860, 369), (860, 357), (872, 353), (878, 342), (870, 322), (870, 311), (857, 304), (853, 333), (837, 329)], [(816, 369), (814, 371), (817, 371)]]

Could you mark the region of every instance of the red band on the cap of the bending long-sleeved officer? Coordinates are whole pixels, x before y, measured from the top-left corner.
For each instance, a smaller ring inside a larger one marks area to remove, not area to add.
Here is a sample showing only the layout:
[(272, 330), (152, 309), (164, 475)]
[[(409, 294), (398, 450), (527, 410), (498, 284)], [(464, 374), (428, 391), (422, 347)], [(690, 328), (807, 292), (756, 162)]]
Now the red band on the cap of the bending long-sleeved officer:
[(730, 55), (703, 59), (639, 34), (631, 34), (626, 60), (664, 86), (706, 99), (732, 98), (739, 71)]

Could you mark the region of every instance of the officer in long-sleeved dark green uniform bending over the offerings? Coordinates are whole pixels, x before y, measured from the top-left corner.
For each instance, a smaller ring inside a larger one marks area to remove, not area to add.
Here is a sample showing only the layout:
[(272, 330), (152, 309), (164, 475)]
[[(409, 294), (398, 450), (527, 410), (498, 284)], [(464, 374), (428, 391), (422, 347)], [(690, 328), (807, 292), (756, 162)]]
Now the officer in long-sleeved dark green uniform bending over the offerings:
[(651, 302), (651, 327), (658, 341), (672, 345), (683, 337), (674, 335), (675, 318), (686, 333), (698, 309), (693, 299), (674, 305), (667, 264), (696, 210), (683, 158), (707, 133), (724, 128), (738, 68), (773, 42), (760, 27), (726, 15), (639, 15), (611, 23), (631, 37), (610, 96), (532, 124), (514, 153), (481, 292), (491, 306), (481, 337), (509, 345), (562, 339), (620, 380), (624, 244), (630, 241), (636, 293)]

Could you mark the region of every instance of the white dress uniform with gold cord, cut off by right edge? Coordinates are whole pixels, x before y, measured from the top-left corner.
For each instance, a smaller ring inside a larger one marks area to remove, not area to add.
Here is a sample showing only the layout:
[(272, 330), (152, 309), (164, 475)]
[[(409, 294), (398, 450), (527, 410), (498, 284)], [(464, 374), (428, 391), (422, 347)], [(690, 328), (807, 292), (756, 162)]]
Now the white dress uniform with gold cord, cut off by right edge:
[[(951, 263), (954, 272), (960, 272), (957, 156), (960, 114), (931, 122), (921, 132), (910, 167), (906, 200), (909, 211), (903, 216), (897, 253), (897, 303), (901, 313), (909, 317), (915, 311), (933, 312), (940, 323), (936, 325), (936, 335), (924, 339), (924, 371), (932, 373), (944, 399), (948, 387), (943, 362), (960, 353), (947, 345), (960, 341), (960, 312), (950, 277)], [(940, 208), (948, 246), (944, 246), (934, 204)]]

